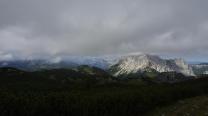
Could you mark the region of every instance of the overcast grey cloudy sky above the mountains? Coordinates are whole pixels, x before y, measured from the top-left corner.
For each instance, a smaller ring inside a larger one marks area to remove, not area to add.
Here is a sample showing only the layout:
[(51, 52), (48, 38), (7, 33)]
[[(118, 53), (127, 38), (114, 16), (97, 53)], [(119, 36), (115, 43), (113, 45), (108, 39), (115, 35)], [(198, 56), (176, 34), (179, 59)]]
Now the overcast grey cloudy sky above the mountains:
[(0, 59), (132, 52), (208, 61), (208, 0), (0, 0)]

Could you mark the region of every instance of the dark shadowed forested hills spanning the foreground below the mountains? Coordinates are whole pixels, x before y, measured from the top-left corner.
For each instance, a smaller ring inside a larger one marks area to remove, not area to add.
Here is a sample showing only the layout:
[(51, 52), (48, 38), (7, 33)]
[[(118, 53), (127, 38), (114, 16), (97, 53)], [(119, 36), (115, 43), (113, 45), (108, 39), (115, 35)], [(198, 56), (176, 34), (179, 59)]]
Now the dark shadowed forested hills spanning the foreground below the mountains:
[(1, 116), (140, 116), (207, 93), (206, 77), (158, 84), (141, 79), (115, 80), (87, 66), (37, 72), (0, 69)]

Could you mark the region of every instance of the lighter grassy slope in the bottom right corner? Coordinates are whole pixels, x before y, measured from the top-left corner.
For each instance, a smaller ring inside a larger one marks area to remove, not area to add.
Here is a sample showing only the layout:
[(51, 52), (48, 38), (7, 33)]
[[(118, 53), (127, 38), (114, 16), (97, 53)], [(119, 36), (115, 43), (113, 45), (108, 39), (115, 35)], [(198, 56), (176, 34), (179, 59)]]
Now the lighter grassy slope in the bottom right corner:
[(207, 116), (208, 96), (180, 100), (167, 107), (157, 108), (149, 116)]

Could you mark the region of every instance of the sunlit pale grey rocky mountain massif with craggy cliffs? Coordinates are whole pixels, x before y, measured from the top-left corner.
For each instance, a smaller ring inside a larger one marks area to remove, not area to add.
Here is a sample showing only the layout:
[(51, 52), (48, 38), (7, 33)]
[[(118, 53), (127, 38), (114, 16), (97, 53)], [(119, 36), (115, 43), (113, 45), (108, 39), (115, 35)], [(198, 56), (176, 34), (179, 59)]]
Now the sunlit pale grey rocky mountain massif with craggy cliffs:
[(186, 76), (194, 76), (192, 67), (183, 59), (162, 59), (156, 55), (139, 54), (122, 57), (111, 66), (114, 76), (129, 75), (154, 69), (157, 72), (176, 72)]

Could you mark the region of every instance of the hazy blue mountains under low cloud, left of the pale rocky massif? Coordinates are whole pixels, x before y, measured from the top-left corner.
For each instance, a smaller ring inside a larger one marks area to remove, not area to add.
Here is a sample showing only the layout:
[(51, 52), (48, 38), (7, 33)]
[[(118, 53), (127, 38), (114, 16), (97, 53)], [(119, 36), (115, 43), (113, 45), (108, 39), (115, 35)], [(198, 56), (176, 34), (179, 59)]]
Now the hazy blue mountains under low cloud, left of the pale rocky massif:
[(74, 68), (81, 65), (101, 68), (107, 70), (109, 66), (115, 64), (119, 58), (117, 56), (70, 56), (67, 58), (51, 58), (42, 60), (13, 60), (0, 61), (0, 67), (13, 67), (25, 71), (37, 71), (42, 69), (59, 69), (59, 68)]

